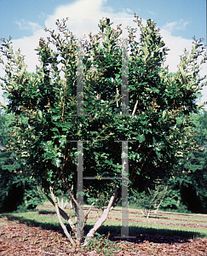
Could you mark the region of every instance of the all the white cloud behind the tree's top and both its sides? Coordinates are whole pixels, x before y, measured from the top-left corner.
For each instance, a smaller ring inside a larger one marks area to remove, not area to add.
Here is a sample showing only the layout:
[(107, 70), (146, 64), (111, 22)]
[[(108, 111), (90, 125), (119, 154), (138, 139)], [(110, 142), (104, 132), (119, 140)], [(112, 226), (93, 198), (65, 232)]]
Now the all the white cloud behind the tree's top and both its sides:
[[(122, 12), (115, 13), (112, 8), (106, 6), (106, 0), (78, 0), (74, 3), (61, 5), (55, 9), (53, 15), (47, 16), (45, 20), (45, 26), (51, 29), (55, 29), (55, 20), (62, 20), (66, 17), (70, 18), (66, 23), (69, 31), (71, 31), (75, 35), (78, 35), (78, 37), (83, 34), (88, 35), (90, 31), (92, 32), (92, 34), (99, 32), (98, 23), (99, 20), (102, 19), (102, 17), (110, 18), (111, 22), (114, 22), (114, 24), (112, 25), (112, 27), (114, 28), (116, 28), (116, 25), (123, 22), (124, 26), (129, 25), (135, 28), (137, 27), (135, 22), (133, 22), (135, 17), (130, 9), (124, 9)], [(88, 20), (83, 20), (83, 18)], [(121, 20), (120, 18), (125, 19)], [(142, 21), (144, 24), (146, 23), (146, 20)], [(166, 64), (169, 65), (170, 72), (177, 71), (177, 65), (180, 62), (179, 55), (183, 54), (183, 50), (185, 48), (187, 50), (191, 50), (193, 40), (175, 37), (171, 35), (172, 31), (174, 31), (175, 29), (185, 29), (187, 24), (188, 22), (184, 20), (167, 23), (160, 31), (161, 36), (164, 39), (164, 43), (168, 48), (170, 48), (166, 61)], [(30, 27), (30, 29), (32, 29), (33, 35), (32, 37), (25, 37), (13, 40), (14, 50), (17, 50), (19, 48), (21, 49), (21, 53), (26, 56), (25, 61), (28, 66), (27, 71), (35, 72), (35, 67), (36, 65), (38, 65), (38, 60), (37, 52), (34, 49), (36, 49), (38, 46), (39, 38), (47, 38), (49, 34), (44, 32), (43, 29), (40, 29), (40, 27), (36, 23), (21, 21), (19, 26), (21, 26), (22, 29), (24, 27), (24, 29), (29, 29)], [(82, 31), (78, 30), (78, 26), (82, 26)], [(139, 32), (137, 32), (137, 36), (138, 35)], [(202, 75), (205, 74), (205, 71), (207, 70), (206, 67), (207, 66), (203, 68), (201, 72)], [(0, 67), (0, 75), (1, 73), (2, 72)], [(205, 89), (205, 92), (203, 92), (203, 94), (207, 99), (207, 88)]]

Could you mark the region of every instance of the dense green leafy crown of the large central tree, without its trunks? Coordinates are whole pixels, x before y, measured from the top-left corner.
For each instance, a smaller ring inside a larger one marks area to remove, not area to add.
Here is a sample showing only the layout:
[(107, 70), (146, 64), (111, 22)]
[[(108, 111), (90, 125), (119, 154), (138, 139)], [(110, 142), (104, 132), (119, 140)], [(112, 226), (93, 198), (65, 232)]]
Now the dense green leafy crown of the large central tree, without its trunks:
[[(10, 41), (3, 43), (3, 50), (11, 57), (3, 86), (8, 92), (8, 111), (17, 115), (15, 146), (21, 151), (22, 159), (25, 158), (26, 163), (36, 170), (34, 172), (38, 172), (35, 175), (42, 178), (43, 186), (55, 183), (62, 166), (68, 181), (76, 176), (77, 146), (70, 141), (89, 141), (83, 143), (86, 175), (89, 173), (90, 176), (102, 176), (106, 173), (110, 176), (114, 175), (114, 172), (121, 173), (120, 169), (115, 168), (117, 163), (121, 164), (121, 145), (114, 141), (136, 140), (129, 151), (129, 179), (133, 178), (135, 182), (130, 185), (140, 190), (151, 186), (156, 177), (165, 177), (168, 172), (172, 172), (175, 163), (182, 158), (184, 149), (187, 150), (188, 143), (180, 145), (178, 142), (187, 139), (189, 121), (186, 117), (186, 122), (177, 127), (175, 118), (179, 113), (197, 111), (196, 92), (201, 88), (199, 82), (202, 79), (196, 80), (198, 65), (191, 60), (196, 53), (201, 55), (202, 50), (199, 50), (199, 47), (202, 44), (197, 41), (193, 43), (192, 54), (187, 59), (185, 52), (177, 76), (171, 77), (168, 76), (167, 67), (162, 67), (167, 49), (158, 35), (156, 26), (152, 20), (148, 20), (147, 26), (143, 27), (138, 17), (136, 22), (142, 32), (140, 43), (129, 41), (132, 49), (129, 56), (129, 113), (132, 114), (134, 109), (134, 116), (117, 114), (121, 106), (118, 104), (118, 108), (116, 107), (117, 101), (113, 101), (112, 95), (116, 94), (116, 86), (118, 91), (121, 91), (121, 71), (118, 71), (118, 79), (112, 82), (112, 73), (115, 73), (118, 65), (120, 66), (120, 58), (114, 60), (113, 56), (96, 57), (93, 61), (83, 57), (83, 73), (92, 72), (92, 65), (98, 66), (93, 75), (89, 76), (88, 73), (88, 76), (85, 76), (83, 84), (84, 102), (88, 102), (87, 106), (84, 106), (84, 113), (89, 116), (72, 116), (76, 114), (77, 105), (78, 45), (65, 26), (60, 28), (65, 39), (49, 31), (49, 42), (40, 40), (37, 53), (40, 55), (42, 67), (37, 67), (33, 76), (26, 73), (20, 53), (17, 53), (15, 59)], [(60, 26), (59, 23), (57, 25)], [(118, 41), (118, 33), (113, 32), (107, 24), (106, 28), (106, 38), (112, 40), (113, 45)], [(133, 38), (134, 33), (129, 31), (129, 38)], [(100, 38), (105, 39), (104, 32), (96, 38), (90, 37), (91, 44), (88, 45), (90, 47), (86, 54), (122, 54), (120, 48), (112, 51), (111, 44), (105, 44), (105, 41), (102, 46)], [(49, 43), (56, 47), (56, 51), (49, 48)], [(12, 63), (16, 62), (19, 64), (13, 67)], [(189, 62), (188, 66), (184, 62)], [(59, 69), (60, 63), (63, 66)], [(183, 67), (185, 73), (182, 72)], [(111, 69), (112, 73), (108, 78)], [(189, 71), (194, 69), (195, 72), (190, 76)], [(64, 73), (64, 79), (60, 79), (60, 71)], [(119, 96), (119, 102), (120, 99)], [(26, 114), (29, 119), (26, 127), (22, 125), (19, 113)], [(64, 161), (66, 156), (67, 160)]]

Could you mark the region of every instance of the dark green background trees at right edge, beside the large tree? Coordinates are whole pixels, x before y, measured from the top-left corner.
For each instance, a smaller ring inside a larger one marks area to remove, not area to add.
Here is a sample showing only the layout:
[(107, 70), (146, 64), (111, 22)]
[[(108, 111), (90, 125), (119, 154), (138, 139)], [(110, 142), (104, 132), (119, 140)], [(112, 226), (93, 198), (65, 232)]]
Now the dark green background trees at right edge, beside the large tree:
[[(170, 194), (164, 199), (162, 208), (206, 213), (207, 178), (206, 178), (206, 117), (204, 112), (190, 114), (193, 123), (194, 137), (189, 138), (197, 147), (186, 155), (181, 165), (183, 173), (179, 177), (170, 178)], [(178, 119), (178, 125), (183, 117)]]

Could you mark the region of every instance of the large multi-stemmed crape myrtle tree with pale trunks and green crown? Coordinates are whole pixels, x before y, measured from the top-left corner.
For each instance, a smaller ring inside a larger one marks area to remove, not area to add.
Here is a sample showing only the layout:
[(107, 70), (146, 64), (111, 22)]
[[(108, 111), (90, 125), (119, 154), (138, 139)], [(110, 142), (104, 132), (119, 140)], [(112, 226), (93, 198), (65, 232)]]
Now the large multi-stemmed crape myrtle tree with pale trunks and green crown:
[[(206, 60), (203, 39), (193, 40), (192, 52), (184, 51), (177, 75), (171, 76), (164, 67), (168, 49), (156, 24), (147, 20), (143, 26), (137, 15), (135, 23), (141, 36), (136, 41), (136, 29), (128, 27), (128, 73), (122, 62), (127, 53), (122, 47), (126, 41), (121, 40), (121, 26), (113, 29), (109, 19), (100, 20), (100, 32), (90, 33), (83, 47), (66, 28), (66, 20), (57, 20), (60, 33), (47, 30), (48, 40), (39, 40), (40, 66), (32, 76), (26, 73), (20, 50), (14, 54), (11, 40), (2, 39), (2, 54), (7, 58), (2, 86), (9, 99), (6, 109), (15, 113), (16, 120), (13, 147), (55, 206), (73, 247), (87, 244), (122, 198), (121, 179), (83, 180), (88, 196), (110, 195), (101, 217), (83, 233), (89, 211), (83, 212), (77, 195), (78, 157), (82, 154), (78, 143), (80, 147), (83, 143), (83, 177), (120, 177), (124, 168), (121, 141), (133, 141), (128, 144), (128, 186), (140, 192), (152, 188), (158, 178), (175, 175), (177, 163), (193, 147), (188, 143), (193, 136), (189, 113), (201, 108), (196, 99), (204, 86), (198, 74)], [(83, 108), (78, 108), (81, 79)], [(128, 79), (128, 90), (122, 88), (124, 79)], [(129, 93), (129, 106), (125, 107), (124, 91)], [(20, 113), (28, 118), (27, 127), (22, 127)], [(180, 113), (186, 118), (177, 126)], [(58, 189), (68, 192), (77, 223), (58, 207)]]

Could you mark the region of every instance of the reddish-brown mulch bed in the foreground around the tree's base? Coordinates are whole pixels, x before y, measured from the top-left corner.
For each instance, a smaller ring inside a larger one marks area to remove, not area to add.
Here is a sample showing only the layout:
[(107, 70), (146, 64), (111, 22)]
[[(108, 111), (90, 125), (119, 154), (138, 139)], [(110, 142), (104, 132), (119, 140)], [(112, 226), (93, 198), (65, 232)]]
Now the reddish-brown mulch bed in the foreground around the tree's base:
[[(118, 236), (111, 234), (109, 237)], [(113, 240), (113, 239), (112, 239)], [(137, 234), (131, 241), (115, 241), (121, 247), (114, 255), (207, 255), (207, 237), (187, 239), (180, 236)], [(0, 218), (0, 255), (103, 255), (72, 249), (61, 230), (43, 230)]]

